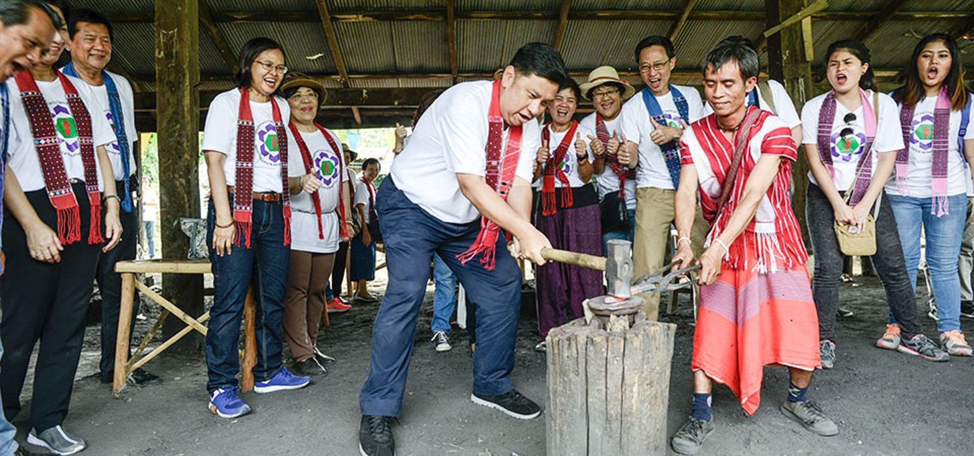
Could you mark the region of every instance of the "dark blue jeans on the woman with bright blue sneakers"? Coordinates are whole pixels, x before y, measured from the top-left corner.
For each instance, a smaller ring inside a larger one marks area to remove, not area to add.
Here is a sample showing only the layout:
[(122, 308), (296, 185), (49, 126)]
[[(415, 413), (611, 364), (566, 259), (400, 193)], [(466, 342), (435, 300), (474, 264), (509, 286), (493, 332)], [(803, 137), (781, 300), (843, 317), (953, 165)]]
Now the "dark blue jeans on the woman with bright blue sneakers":
[[(230, 195), (234, 200), (234, 195)], [(207, 239), (213, 238), (216, 213), (209, 202)], [(206, 325), (206, 390), (237, 386), (240, 372), (240, 331), (244, 299), (251, 281), (257, 300), (257, 381), (267, 380), (281, 370), (282, 301), (287, 287), (290, 246), (284, 245), (281, 202), (253, 201), (250, 248), (234, 245), (229, 254), (216, 255), (209, 247), (213, 268), (213, 306)]]

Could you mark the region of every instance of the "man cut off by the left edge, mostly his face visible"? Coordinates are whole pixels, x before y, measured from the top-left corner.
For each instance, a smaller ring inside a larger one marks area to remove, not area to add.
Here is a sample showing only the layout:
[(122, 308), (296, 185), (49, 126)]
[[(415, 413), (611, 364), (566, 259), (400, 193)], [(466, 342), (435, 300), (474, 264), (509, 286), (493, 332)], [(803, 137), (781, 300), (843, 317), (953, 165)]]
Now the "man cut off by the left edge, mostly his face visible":
[[(10, 93), (4, 81), (23, 70), (28, 62), (36, 61), (51, 45), (60, 18), (45, 3), (37, 0), (0, 0), (0, 195), (3, 194), (7, 170), (7, 145), (13, 129), (10, 126)], [(0, 198), (0, 212), (3, 199)], [(3, 220), (0, 219), (0, 227)], [(0, 239), (0, 275), (6, 268)], [(0, 345), (0, 356), (3, 346)], [(2, 408), (2, 403), (0, 403)], [(0, 456), (26, 454), (14, 438), (17, 428), (0, 413)]]

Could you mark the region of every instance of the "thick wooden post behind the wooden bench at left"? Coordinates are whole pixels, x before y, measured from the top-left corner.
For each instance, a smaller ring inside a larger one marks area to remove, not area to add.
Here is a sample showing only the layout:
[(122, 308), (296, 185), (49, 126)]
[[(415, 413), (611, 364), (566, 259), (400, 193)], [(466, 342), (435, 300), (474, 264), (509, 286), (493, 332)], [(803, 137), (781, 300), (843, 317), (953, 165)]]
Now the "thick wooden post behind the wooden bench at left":
[[(159, 176), (163, 258), (185, 259), (189, 238), (178, 227), (179, 217), (200, 216), (197, 179), (200, 135), (200, 18), (198, 0), (156, 2), (156, 107), (159, 133)], [(203, 314), (203, 275), (165, 274), (163, 294), (190, 315)], [(163, 326), (169, 337), (182, 330), (172, 319)], [(175, 347), (199, 352), (198, 333)]]

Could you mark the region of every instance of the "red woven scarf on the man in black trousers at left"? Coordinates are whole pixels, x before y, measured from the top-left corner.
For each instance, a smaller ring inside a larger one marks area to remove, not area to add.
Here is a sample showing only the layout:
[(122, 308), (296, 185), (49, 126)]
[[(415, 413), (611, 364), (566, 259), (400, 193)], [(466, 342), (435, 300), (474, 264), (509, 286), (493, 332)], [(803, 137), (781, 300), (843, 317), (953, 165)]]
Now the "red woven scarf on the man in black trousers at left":
[[(98, 168), (94, 162), (94, 140), (92, 139), (92, 116), (78, 89), (66, 76), (56, 71), (64, 93), (67, 107), (74, 124), (65, 121), (64, 129), (76, 128), (81, 161), (85, 167), (85, 190), (91, 205), (91, 227), (88, 230), (88, 243), (100, 244), (101, 237), (101, 193), (98, 192)], [(34, 148), (44, 173), (44, 187), (51, 198), (51, 205), (57, 212), (57, 238), (61, 244), (71, 244), (81, 240), (81, 212), (64, 170), (64, 158), (60, 154), (57, 129), (44, 95), (37, 88), (34, 77), (27, 71), (19, 71), (15, 76), (20, 88), (20, 99), (30, 121), (30, 131), (34, 137)]]

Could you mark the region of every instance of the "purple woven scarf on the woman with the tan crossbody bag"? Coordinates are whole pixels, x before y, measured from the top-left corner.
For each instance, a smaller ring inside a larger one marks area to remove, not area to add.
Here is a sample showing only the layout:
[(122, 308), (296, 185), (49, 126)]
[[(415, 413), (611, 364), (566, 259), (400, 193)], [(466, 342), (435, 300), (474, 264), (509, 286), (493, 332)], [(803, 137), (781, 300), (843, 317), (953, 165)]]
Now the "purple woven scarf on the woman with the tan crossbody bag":
[[(849, 207), (855, 206), (869, 188), (869, 183), (873, 179), (873, 159), (870, 152), (873, 149), (873, 139), (876, 137), (876, 112), (869, 102), (866, 90), (859, 88), (859, 97), (862, 98), (862, 113), (866, 123), (866, 142), (859, 155), (859, 165), (856, 167), (855, 185), (852, 187), (852, 196), (849, 197)], [(818, 112), (818, 157), (822, 159), (822, 164), (829, 170), (829, 176), (836, 178), (836, 171), (832, 165), (832, 125), (836, 121), (836, 92), (829, 90), (822, 102), (822, 108)], [(837, 133), (838, 136), (838, 133)], [(836, 141), (846, 141), (839, 137)], [(838, 157), (838, 153), (837, 153)], [(840, 192), (846, 189), (839, 189)]]

